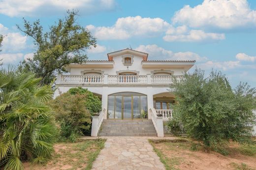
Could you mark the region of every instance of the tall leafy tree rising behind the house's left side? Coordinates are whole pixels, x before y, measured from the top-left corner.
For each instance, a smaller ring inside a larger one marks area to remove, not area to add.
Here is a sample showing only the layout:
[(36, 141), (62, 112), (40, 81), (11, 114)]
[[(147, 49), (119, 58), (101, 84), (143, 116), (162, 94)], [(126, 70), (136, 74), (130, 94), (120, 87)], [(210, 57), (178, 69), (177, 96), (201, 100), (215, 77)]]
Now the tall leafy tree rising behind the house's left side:
[(66, 65), (85, 62), (88, 58), (85, 50), (96, 47), (96, 39), (86, 28), (76, 23), (77, 15), (77, 11), (67, 11), (64, 19), (59, 19), (44, 33), (39, 20), (30, 24), (24, 19), (24, 28), (17, 25), (18, 29), (33, 39), (37, 47), (33, 58), (24, 60), (19, 68), (42, 77), (40, 83), (50, 84), (57, 73), (66, 72)]

